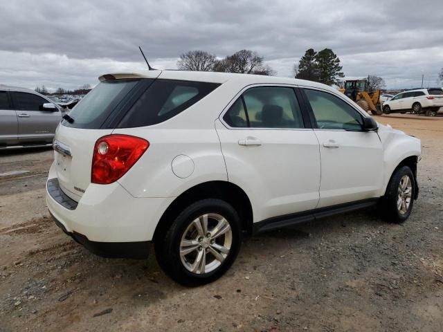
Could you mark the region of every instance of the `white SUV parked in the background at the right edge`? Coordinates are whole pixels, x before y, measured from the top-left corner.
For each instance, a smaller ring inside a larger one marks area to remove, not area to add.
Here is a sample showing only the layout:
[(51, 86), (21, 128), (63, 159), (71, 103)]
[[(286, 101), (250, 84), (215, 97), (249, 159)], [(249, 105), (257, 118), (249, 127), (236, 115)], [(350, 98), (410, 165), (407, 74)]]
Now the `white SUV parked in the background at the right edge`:
[(443, 107), (443, 90), (415, 89), (395, 95), (391, 100), (384, 102), (383, 113), (424, 113), (426, 116), (435, 116), (438, 109)]

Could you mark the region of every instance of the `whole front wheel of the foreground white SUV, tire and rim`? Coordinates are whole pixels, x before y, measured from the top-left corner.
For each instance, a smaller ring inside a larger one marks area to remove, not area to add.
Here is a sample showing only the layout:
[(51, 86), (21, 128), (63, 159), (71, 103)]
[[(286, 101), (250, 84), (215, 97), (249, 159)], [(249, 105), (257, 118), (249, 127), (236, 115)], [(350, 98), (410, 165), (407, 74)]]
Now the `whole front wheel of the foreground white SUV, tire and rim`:
[(415, 178), (408, 166), (397, 169), (392, 174), (386, 194), (380, 201), (379, 210), (392, 223), (402, 223), (413, 210), (415, 197)]

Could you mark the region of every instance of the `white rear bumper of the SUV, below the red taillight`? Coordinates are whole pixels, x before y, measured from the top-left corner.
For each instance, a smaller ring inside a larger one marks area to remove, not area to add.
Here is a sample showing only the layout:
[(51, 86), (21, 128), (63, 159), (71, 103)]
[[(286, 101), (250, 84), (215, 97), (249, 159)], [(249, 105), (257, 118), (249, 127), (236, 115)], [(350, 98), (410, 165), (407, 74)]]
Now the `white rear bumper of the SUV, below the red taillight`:
[[(152, 241), (156, 225), (174, 200), (134, 198), (120, 184), (87, 187), (75, 202), (57, 189), (51, 167), (46, 183), (46, 205), (57, 223), (75, 239), (86, 243), (127, 243)], [(59, 188), (60, 189), (60, 188)], [(71, 235), (73, 236), (73, 235)]]

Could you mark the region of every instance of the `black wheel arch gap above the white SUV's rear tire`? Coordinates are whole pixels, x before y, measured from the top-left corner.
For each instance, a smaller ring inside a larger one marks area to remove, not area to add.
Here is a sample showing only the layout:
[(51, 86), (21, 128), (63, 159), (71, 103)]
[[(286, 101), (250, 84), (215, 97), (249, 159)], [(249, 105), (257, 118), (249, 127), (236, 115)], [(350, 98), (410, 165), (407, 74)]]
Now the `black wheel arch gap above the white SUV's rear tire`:
[(208, 181), (200, 183), (177, 196), (165, 210), (154, 231), (154, 243), (170, 228), (175, 217), (188, 205), (199, 199), (222, 199), (239, 214), (242, 221), (242, 231), (251, 234), (253, 230), (253, 209), (248, 195), (234, 183), (228, 181)]

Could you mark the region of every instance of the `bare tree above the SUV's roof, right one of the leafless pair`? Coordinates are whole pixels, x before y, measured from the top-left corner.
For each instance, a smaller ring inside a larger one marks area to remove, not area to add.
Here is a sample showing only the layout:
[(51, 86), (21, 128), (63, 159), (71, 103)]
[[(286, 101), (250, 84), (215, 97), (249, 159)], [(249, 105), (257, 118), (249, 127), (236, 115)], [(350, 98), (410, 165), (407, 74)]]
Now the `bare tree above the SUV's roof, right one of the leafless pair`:
[(263, 63), (263, 57), (260, 57), (257, 52), (253, 52), (252, 50), (239, 50), (233, 55), (228, 55), (215, 64), (214, 71), (273, 75), (272, 68)]

